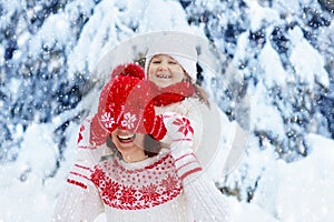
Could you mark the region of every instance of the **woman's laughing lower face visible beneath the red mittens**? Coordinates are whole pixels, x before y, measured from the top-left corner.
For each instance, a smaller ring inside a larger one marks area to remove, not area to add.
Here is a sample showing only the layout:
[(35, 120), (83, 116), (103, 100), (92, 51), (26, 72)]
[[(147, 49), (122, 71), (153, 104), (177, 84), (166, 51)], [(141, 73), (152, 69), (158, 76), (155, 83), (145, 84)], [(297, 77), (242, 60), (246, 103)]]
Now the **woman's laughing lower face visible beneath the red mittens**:
[(147, 158), (144, 152), (144, 138), (145, 134), (143, 133), (134, 133), (122, 129), (116, 129), (111, 133), (111, 141), (126, 162), (137, 162)]

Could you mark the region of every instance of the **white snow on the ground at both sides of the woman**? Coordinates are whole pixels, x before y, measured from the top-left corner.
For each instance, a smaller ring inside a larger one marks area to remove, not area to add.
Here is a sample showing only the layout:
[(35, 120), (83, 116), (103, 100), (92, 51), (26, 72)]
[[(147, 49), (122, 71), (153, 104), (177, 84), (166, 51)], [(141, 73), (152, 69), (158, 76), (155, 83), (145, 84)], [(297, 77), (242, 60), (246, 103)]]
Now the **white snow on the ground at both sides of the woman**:
[[(69, 138), (75, 137), (77, 127), (70, 127), (72, 132), (69, 132)], [(50, 220), (57, 196), (65, 184), (66, 171), (75, 157), (73, 151), (68, 151), (67, 161), (59, 173), (53, 179), (41, 180), (42, 173), (47, 172), (43, 169), (52, 165), (49, 161), (52, 158), (47, 157), (55, 155), (48, 139), (52, 129), (52, 125), (31, 125), (31, 131), (28, 132), (35, 134), (27, 133), (24, 137), (23, 144), (27, 147), (23, 145), (26, 151), (22, 151), (22, 158), (1, 167), (0, 221)], [(40, 133), (46, 137), (38, 137)], [(31, 138), (39, 139), (32, 141)], [(293, 163), (277, 161), (268, 165), (253, 202), (245, 203), (234, 196), (227, 198), (233, 221), (332, 221), (334, 141), (316, 134), (310, 134), (308, 140), (312, 153), (305, 159)], [(73, 145), (73, 141), (71, 143)], [(45, 145), (50, 149), (39, 149)], [(28, 164), (31, 160), (33, 164)], [(30, 168), (26, 168), (27, 165)], [(272, 205), (265, 205), (266, 203)], [(104, 215), (97, 221), (104, 221)]]

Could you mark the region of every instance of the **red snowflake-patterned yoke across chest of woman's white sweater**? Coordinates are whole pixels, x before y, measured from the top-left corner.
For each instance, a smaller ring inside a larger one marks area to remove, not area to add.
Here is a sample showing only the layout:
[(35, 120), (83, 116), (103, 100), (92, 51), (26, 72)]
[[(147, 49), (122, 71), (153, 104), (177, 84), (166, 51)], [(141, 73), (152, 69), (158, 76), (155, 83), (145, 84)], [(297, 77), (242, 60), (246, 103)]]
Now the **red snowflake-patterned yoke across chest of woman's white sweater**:
[[(148, 209), (175, 199), (183, 190), (170, 154), (165, 154), (153, 164), (139, 169), (127, 169), (124, 164), (122, 161), (112, 158), (92, 169), (86, 169), (90, 171), (90, 176), (85, 178), (95, 184), (104, 203), (110, 208)], [(82, 167), (80, 168), (82, 170)], [(81, 178), (84, 179), (84, 174)]]

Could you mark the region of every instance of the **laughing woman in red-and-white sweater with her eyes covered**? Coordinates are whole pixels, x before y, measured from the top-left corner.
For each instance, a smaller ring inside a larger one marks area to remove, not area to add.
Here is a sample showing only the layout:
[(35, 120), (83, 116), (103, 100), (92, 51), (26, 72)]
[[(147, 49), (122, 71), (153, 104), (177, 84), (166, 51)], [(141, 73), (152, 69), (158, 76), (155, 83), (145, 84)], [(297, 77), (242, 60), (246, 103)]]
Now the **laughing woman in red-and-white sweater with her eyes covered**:
[(156, 115), (150, 85), (127, 72), (105, 88), (89, 138), (88, 128), (79, 137), (115, 154), (98, 159), (97, 149), (80, 147), (53, 221), (94, 221), (101, 212), (107, 221), (228, 221), (224, 196), (194, 154), (190, 120)]

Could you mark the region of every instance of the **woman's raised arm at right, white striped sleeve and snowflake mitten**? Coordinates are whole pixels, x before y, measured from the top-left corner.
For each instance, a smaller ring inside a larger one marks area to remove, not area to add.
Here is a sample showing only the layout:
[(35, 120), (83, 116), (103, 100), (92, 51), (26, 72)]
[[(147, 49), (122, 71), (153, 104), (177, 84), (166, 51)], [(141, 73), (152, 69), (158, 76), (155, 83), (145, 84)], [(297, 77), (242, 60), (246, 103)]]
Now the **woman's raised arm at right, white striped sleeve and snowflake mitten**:
[(190, 120), (176, 113), (165, 113), (164, 123), (167, 128), (164, 142), (170, 143), (170, 154), (195, 221), (229, 221), (225, 196), (206, 178), (191, 149), (194, 130)]

